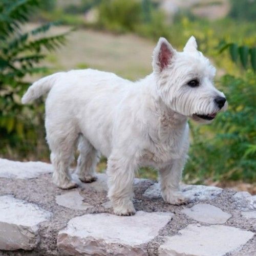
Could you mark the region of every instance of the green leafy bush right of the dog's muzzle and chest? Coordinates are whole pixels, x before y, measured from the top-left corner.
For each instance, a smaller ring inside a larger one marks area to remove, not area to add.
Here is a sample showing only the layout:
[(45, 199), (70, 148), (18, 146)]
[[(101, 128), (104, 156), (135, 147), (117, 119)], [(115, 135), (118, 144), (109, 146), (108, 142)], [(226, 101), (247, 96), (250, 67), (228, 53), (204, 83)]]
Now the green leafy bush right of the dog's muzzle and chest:
[(193, 143), (185, 180), (256, 180), (255, 80), (251, 71), (244, 78), (222, 77), (228, 111), (209, 126), (190, 125)]

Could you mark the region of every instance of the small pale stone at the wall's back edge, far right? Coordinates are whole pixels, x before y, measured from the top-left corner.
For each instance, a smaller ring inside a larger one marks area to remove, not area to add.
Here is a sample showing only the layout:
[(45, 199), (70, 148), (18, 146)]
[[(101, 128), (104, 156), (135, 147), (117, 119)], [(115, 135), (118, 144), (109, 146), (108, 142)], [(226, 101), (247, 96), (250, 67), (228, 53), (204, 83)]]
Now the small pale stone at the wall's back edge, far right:
[(233, 195), (236, 208), (241, 210), (256, 209), (256, 195), (252, 196), (249, 192), (241, 191)]

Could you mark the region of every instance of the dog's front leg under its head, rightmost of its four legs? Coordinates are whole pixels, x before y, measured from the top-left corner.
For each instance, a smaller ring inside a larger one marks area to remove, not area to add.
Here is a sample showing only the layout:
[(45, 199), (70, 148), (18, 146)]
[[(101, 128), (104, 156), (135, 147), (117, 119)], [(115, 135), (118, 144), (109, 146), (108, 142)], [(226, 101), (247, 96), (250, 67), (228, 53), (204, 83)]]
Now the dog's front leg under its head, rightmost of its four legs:
[(180, 205), (187, 202), (179, 187), (185, 159), (175, 159), (171, 164), (159, 169), (159, 182), (163, 200)]

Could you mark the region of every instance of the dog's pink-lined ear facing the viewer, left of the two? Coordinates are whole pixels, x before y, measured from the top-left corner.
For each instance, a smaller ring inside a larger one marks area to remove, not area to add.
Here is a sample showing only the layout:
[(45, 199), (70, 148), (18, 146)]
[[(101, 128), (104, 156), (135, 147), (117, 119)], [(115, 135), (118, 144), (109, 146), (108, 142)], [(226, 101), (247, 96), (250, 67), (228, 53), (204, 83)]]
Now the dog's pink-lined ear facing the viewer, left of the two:
[(155, 72), (161, 72), (168, 67), (172, 63), (175, 53), (176, 51), (169, 42), (165, 38), (160, 37), (153, 52), (153, 70)]

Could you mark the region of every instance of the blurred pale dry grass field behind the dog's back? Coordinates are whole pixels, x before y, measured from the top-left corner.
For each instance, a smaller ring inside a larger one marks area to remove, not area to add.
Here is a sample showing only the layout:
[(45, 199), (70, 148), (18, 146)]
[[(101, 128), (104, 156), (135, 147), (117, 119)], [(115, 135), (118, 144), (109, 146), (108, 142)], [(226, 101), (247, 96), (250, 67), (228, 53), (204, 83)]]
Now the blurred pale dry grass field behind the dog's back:
[[(30, 27), (33, 27), (30, 24)], [(63, 32), (62, 26), (52, 32)], [(113, 35), (107, 32), (78, 29), (68, 36), (68, 43), (49, 54), (46, 65), (53, 71), (93, 68), (114, 72), (126, 79), (140, 79), (152, 72), (154, 42), (133, 34)]]

